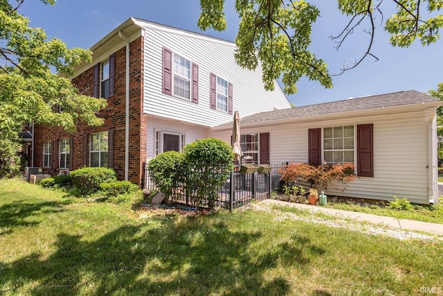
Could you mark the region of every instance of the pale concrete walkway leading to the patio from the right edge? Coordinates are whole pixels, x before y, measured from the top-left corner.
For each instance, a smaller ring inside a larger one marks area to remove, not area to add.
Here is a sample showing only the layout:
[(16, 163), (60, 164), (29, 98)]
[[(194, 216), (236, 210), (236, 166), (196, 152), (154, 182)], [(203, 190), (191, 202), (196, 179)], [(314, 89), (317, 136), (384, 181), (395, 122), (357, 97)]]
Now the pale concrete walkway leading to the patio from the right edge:
[(412, 230), (419, 232), (428, 232), (430, 234), (443, 235), (443, 224), (429, 223), (415, 220), (397, 219), (393, 217), (378, 216), (373, 214), (359, 213), (356, 211), (344, 211), (341, 209), (328, 209), (310, 204), (299, 204), (295, 202), (283, 202), (281, 200), (263, 200), (260, 204), (276, 204), (282, 207), (297, 207), (298, 209), (307, 209), (312, 212), (322, 212), (329, 216), (337, 216), (339, 218), (350, 218), (357, 221), (364, 221), (376, 225), (383, 225), (392, 228)]

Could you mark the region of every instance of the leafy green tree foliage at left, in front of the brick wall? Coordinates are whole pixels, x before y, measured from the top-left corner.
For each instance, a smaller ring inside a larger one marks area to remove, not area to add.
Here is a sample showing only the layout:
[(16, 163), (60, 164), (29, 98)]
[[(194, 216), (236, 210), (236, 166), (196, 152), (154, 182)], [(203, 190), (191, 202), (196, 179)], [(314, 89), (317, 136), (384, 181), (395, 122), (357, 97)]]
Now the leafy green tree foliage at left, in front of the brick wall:
[(48, 40), (41, 28), (30, 28), (18, 12), (22, 3), (0, 0), (0, 137), (13, 139), (24, 123), (69, 132), (78, 121), (101, 125), (96, 114), (105, 100), (79, 94), (68, 79), (80, 62), (91, 62), (91, 52), (67, 49), (62, 40)]

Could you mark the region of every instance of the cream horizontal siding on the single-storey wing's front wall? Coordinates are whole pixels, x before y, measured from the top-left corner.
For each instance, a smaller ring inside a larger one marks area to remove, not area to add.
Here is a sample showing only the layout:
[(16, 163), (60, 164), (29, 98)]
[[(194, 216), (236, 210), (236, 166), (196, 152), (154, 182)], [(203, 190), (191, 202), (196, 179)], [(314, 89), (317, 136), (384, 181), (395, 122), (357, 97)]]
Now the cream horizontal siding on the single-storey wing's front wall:
[[(357, 177), (345, 191), (325, 190), (328, 196), (393, 200), (408, 198), (428, 204), (428, 115), (410, 112), (357, 119), (320, 121), (246, 128), (242, 134), (269, 132), (271, 164), (308, 161), (308, 129), (372, 123), (374, 126), (374, 177)], [(232, 131), (211, 131), (230, 143)], [(356, 162), (356, 159), (355, 159)]]

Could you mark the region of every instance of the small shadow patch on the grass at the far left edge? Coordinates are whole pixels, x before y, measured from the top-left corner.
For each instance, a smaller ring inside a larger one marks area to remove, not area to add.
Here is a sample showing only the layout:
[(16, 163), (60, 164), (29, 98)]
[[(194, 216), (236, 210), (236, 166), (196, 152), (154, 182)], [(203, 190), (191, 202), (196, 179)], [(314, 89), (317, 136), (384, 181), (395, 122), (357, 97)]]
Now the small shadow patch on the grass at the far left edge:
[(24, 202), (15, 201), (0, 207), (0, 235), (12, 232), (15, 227), (37, 225), (37, 220), (30, 220), (43, 213), (64, 211), (65, 202)]

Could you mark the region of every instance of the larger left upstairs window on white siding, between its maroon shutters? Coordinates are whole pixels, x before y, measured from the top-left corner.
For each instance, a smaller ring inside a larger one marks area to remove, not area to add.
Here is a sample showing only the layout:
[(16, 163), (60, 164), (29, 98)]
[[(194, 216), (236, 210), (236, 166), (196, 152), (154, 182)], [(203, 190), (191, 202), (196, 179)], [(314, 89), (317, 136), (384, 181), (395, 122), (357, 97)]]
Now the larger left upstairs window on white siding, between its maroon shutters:
[(174, 96), (190, 99), (191, 62), (174, 53)]

